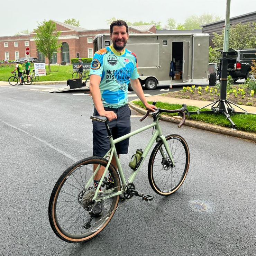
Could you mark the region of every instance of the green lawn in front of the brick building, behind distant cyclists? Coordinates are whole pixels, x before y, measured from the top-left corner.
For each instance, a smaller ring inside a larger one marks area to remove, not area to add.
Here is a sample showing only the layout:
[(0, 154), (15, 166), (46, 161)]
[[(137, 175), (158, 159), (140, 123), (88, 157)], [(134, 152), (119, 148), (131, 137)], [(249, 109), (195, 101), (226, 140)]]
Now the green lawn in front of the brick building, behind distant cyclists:
[[(25, 65), (22, 64), (25, 69)], [(9, 77), (12, 76), (15, 65), (10, 63), (9, 66), (0, 65), (0, 81), (8, 81)], [(30, 66), (30, 70), (34, 69), (34, 65)], [(30, 71), (30, 72), (31, 72)], [(48, 65), (46, 65), (46, 76), (40, 76), (39, 81), (63, 81), (72, 79), (72, 65), (68, 66), (51, 66), (51, 72), (49, 72)]]

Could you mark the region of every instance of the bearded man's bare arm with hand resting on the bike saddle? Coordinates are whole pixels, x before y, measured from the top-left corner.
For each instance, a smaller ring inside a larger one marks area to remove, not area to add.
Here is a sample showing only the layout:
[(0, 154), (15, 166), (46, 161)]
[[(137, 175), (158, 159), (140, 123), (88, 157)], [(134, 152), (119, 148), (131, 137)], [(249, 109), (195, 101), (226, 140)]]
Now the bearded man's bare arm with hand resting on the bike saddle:
[(116, 113), (113, 111), (104, 110), (101, 94), (100, 94), (100, 80), (101, 76), (99, 75), (90, 75), (90, 92), (92, 94), (92, 100), (94, 102), (94, 106), (98, 111), (99, 115), (102, 117), (107, 117), (109, 121), (117, 118)]

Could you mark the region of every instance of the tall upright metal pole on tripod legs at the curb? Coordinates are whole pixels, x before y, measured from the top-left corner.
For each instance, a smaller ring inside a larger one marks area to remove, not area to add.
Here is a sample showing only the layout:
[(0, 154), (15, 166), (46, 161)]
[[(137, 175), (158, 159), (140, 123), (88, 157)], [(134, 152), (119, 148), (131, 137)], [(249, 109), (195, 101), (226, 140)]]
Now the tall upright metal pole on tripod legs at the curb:
[(228, 46), (229, 46), (229, 16), (230, 16), (230, 2), (227, 0), (226, 4), (226, 19), (225, 19), (225, 30), (224, 30), (224, 40), (223, 40), (223, 53), (222, 53), (222, 68), (221, 68), (221, 78), (220, 78), (220, 109), (225, 110), (225, 105), (223, 100), (226, 100), (227, 93), (227, 75), (228, 75)]

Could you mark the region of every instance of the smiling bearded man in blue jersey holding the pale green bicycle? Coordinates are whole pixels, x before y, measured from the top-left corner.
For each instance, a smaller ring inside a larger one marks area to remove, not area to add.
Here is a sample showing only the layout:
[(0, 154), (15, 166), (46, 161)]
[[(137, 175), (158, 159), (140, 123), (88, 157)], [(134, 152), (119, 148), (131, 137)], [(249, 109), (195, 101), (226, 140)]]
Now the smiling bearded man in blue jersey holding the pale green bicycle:
[[(109, 128), (113, 139), (130, 132), (131, 111), (128, 106), (128, 84), (143, 102), (147, 109), (155, 111), (155, 106), (148, 104), (139, 82), (136, 55), (125, 46), (129, 38), (125, 21), (113, 21), (110, 25), (112, 45), (99, 50), (93, 56), (90, 67), (90, 92), (94, 103), (94, 116), (105, 116), (109, 120)], [(110, 148), (106, 126), (102, 122), (93, 121), (93, 155), (103, 157)], [(129, 138), (116, 144), (118, 157), (127, 154)], [(117, 168), (115, 158), (113, 165)], [(94, 168), (95, 170), (95, 168)], [(104, 168), (94, 176), (94, 187), (103, 174)], [(111, 182), (111, 177), (109, 177)]]

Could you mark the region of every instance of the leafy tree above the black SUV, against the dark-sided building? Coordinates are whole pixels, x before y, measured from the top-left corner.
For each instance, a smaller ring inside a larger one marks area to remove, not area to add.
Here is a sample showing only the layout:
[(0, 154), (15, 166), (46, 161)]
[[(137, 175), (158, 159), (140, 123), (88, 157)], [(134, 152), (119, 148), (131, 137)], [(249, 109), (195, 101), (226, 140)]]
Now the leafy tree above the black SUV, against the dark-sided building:
[[(223, 48), (224, 29), (221, 35), (213, 33), (212, 43), (217, 49)], [(231, 25), (229, 30), (229, 48), (255, 48), (256, 22)]]

